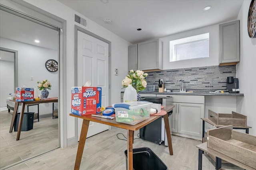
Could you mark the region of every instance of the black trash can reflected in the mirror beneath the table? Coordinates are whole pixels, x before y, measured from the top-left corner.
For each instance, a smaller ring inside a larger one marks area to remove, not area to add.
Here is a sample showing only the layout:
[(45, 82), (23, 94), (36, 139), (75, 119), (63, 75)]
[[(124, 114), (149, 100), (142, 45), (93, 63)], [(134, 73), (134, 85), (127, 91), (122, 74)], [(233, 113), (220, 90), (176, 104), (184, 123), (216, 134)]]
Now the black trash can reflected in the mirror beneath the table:
[[(17, 113), (14, 120), (14, 131), (18, 131), (20, 113)], [(21, 131), (29, 131), (33, 129), (34, 112), (25, 112), (23, 115)]]

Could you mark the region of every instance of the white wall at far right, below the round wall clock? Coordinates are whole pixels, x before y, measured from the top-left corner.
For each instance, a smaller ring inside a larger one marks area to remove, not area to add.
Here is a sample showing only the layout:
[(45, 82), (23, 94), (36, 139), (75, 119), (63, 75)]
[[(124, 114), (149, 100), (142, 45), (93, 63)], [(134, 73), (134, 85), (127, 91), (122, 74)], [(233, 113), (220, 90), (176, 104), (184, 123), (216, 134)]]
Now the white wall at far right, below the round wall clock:
[(247, 115), (247, 125), (251, 135), (256, 135), (256, 38), (250, 38), (247, 32), (247, 16), (250, 0), (245, 0), (238, 14), (240, 20), (240, 63), (236, 65), (236, 77), (244, 98), (237, 100), (237, 111)]

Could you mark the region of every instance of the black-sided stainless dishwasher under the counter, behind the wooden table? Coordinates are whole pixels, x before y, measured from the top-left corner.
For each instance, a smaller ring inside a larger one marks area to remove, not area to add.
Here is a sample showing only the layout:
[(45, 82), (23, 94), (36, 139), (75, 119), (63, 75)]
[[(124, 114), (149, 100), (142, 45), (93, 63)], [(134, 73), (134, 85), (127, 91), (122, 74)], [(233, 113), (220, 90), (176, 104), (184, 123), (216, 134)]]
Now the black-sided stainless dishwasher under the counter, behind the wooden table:
[[(145, 101), (156, 103), (156, 104), (162, 104), (163, 106), (170, 105), (171, 102), (173, 102), (173, 99), (171, 96), (166, 96), (166, 97), (143, 96), (141, 97), (141, 100), (145, 100)], [(168, 112), (167, 114), (169, 119), (169, 125), (171, 125), (172, 121), (171, 121), (170, 115), (172, 114), (172, 111)], [(154, 143), (157, 143), (158, 145), (161, 145), (161, 143), (164, 143), (165, 146), (168, 146), (163, 116), (159, 117), (152, 123), (142, 127), (140, 129), (140, 139), (154, 142)]]

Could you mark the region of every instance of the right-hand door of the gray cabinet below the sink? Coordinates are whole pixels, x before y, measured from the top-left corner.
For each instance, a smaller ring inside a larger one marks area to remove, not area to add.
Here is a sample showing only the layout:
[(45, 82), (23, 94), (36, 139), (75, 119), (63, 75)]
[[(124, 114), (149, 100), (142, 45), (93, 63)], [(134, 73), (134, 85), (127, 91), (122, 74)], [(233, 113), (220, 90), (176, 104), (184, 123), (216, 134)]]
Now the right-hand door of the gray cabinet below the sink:
[(204, 104), (179, 103), (178, 133), (202, 137), (202, 120)]

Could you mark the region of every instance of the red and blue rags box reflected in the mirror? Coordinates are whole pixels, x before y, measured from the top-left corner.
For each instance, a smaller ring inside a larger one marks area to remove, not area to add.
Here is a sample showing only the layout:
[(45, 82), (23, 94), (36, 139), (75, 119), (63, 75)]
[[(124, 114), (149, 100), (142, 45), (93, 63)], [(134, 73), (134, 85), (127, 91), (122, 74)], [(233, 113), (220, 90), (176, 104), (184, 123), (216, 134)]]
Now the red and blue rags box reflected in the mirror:
[(16, 88), (16, 101), (34, 101), (34, 88)]

